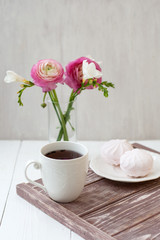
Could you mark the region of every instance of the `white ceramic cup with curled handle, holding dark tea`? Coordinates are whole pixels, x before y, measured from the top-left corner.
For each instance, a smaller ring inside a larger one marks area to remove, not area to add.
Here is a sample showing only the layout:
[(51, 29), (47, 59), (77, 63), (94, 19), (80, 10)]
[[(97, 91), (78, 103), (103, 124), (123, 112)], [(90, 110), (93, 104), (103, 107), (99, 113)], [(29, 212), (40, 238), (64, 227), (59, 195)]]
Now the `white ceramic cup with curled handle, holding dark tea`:
[[(46, 157), (49, 152), (56, 150), (71, 150), (80, 153), (79, 158), (59, 160)], [(33, 164), (41, 169), (43, 185), (32, 181), (27, 174), (28, 167)], [(37, 187), (42, 188), (57, 202), (74, 201), (83, 190), (88, 171), (88, 149), (75, 142), (53, 142), (42, 147), (40, 161), (30, 161), (25, 167), (26, 179)]]

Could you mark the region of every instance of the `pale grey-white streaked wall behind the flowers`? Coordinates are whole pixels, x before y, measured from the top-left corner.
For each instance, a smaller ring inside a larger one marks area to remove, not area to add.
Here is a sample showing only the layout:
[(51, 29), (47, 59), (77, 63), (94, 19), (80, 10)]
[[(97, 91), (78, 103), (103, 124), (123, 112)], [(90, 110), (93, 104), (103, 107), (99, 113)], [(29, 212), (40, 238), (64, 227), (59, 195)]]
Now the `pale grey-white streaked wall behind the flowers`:
[(47, 139), (41, 89), (19, 107), (6, 70), (31, 80), (39, 59), (65, 66), (87, 54), (116, 88), (79, 96), (78, 139), (160, 139), (160, 0), (0, 0), (0, 30), (1, 139)]

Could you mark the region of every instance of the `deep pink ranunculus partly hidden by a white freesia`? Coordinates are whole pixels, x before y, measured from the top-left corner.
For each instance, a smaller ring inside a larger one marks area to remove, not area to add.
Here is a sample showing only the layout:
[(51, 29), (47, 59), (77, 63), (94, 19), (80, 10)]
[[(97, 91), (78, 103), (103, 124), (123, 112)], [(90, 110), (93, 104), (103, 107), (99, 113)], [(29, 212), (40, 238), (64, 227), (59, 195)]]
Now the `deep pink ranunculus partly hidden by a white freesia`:
[[(70, 62), (66, 66), (66, 72), (65, 72), (65, 80), (64, 82), (71, 87), (74, 91), (76, 91), (78, 88), (81, 87), (82, 81), (83, 81), (83, 71), (82, 71), (82, 65), (83, 61), (87, 60), (87, 62), (94, 63), (95, 67), (98, 71), (101, 71), (101, 67), (98, 63), (96, 63), (94, 60), (87, 58), (87, 57), (81, 57), (78, 58), (72, 62)], [(97, 78), (97, 83), (101, 83), (102, 78)], [(87, 87), (88, 89), (93, 89), (93, 86)]]

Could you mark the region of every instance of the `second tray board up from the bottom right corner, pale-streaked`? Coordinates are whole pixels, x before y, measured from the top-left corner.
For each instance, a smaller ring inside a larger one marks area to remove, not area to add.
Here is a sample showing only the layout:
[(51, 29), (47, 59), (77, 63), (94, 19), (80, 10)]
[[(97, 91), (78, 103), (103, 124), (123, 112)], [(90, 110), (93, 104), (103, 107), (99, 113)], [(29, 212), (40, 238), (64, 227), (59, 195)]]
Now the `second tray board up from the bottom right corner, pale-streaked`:
[(112, 236), (159, 213), (160, 189), (155, 186), (100, 208), (83, 219)]

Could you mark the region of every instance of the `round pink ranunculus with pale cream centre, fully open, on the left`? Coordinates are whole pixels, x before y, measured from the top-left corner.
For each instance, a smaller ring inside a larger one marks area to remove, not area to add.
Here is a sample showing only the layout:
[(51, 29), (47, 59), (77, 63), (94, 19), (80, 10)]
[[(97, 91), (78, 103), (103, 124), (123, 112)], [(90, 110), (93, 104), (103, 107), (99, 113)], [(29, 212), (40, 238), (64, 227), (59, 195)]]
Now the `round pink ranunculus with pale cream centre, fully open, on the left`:
[(63, 83), (63, 74), (62, 65), (53, 59), (40, 60), (31, 69), (34, 84), (43, 92), (49, 92), (57, 87), (57, 83)]

